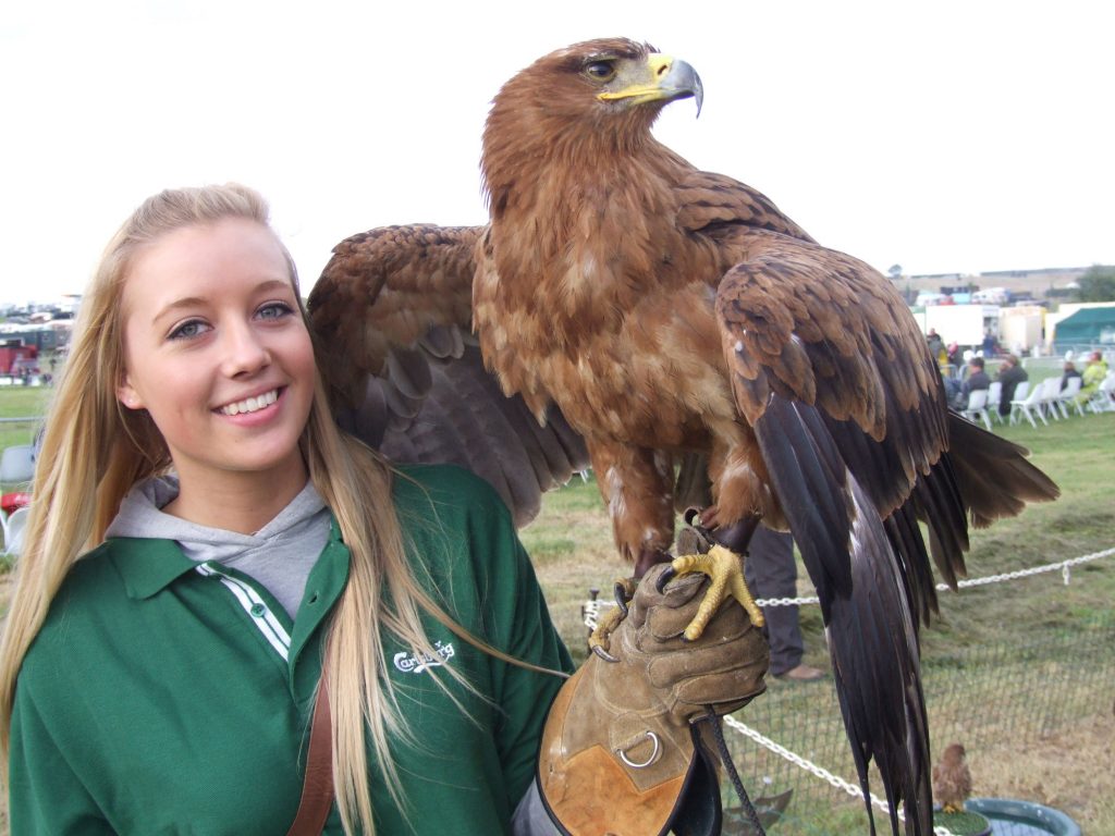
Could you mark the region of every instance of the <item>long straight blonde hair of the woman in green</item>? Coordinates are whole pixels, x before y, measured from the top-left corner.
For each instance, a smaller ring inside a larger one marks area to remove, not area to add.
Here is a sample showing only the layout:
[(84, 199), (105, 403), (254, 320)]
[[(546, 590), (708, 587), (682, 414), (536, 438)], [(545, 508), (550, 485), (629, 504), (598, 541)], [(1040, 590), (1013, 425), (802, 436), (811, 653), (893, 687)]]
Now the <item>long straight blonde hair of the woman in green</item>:
[[(268, 226), (268, 205), (236, 184), (168, 189), (148, 198), (109, 242), (83, 299), (69, 359), (47, 414), (25, 547), (0, 642), (0, 770), (6, 780), (16, 679), (55, 594), (79, 556), (101, 542), (132, 486), (171, 466), (149, 416), (116, 399), (125, 371), (120, 297), (130, 260), (168, 232), (226, 217)], [(283, 253), (298, 295), (294, 263), (285, 247)], [(323, 669), (329, 671), (333, 782), (341, 818), (347, 833), (358, 826), (370, 836), (375, 824), (365, 732), (404, 808), (388, 737), (409, 738), (384, 671), (376, 625), (426, 653), (433, 649), (420, 611), (454, 632), (460, 628), (414, 576), (391, 502), (392, 472), (378, 454), (338, 429), (320, 375), (300, 446), (310, 480), (333, 511), (351, 551), (349, 582), (329, 626)], [(387, 587), (390, 595), (384, 594)]]

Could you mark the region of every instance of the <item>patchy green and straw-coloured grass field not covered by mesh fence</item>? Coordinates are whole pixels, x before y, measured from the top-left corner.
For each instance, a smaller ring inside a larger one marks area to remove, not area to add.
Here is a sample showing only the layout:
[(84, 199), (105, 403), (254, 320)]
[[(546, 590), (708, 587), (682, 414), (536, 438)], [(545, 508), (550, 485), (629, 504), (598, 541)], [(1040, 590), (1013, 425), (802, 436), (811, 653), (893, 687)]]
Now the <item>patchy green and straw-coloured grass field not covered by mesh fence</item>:
[[(36, 415), (47, 395), (43, 389), (0, 388), (0, 416)], [(29, 426), (7, 426), (0, 425), (0, 432), (12, 434), (3, 436), (4, 445), (29, 440)], [(1060, 485), (1063, 496), (1056, 503), (1032, 506), (1020, 517), (975, 532), (968, 561), (970, 575), (1008, 572), (1115, 546), (1115, 414), (1073, 417), (1039, 429), (1028, 425), (997, 426), (996, 431), (1028, 447), (1032, 460)], [(534, 558), (559, 630), (574, 655), (583, 657), (581, 605), (591, 589), (608, 596), (612, 581), (624, 572), (614, 554), (611, 526), (595, 485), (591, 479), (574, 478), (566, 487), (547, 494), (541, 516), (524, 529), (522, 537)], [(801, 592), (811, 593), (804, 571), (799, 577)], [(4, 594), (0, 590), (0, 596)], [(1083, 634), (1095, 619), (1111, 615), (1113, 602), (1115, 557), (1076, 567), (1068, 585), (1063, 584), (1059, 574), (1046, 574), (967, 589), (959, 594), (946, 593), (940, 615), (922, 633), (927, 674), (964, 664), (966, 653), (972, 649), (1009, 645), (1022, 636), (1044, 633)], [(818, 610), (803, 607), (801, 618), (806, 661), (827, 668)], [(1111, 653), (1115, 654), (1115, 650)], [(1041, 675), (1058, 674), (1043, 669), (1034, 670), (1031, 678)], [(1104, 687), (1107, 697), (1103, 710), (1086, 709), (1072, 723), (1044, 732), (1036, 740), (1014, 746), (1007, 740), (1006, 749), (970, 751), (977, 795), (1050, 804), (1072, 815), (1086, 834), (1115, 834), (1115, 770), (1111, 767), (1115, 736), (1111, 694), (1115, 681)], [(779, 688), (794, 686), (772, 683), (770, 693), (760, 700), (773, 703), (787, 693), (799, 696), (784, 690), (779, 697)], [(821, 688), (831, 693), (831, 687)], [(987, 704), (993, 698), (981, 699), (985, 704), (979, 708), (986, 715), (1007, 710), (1006, 706)], [(757, 712), (760, 700), (740, 712), (740, 718), (746, 721), (749, 713)], [(799, 813), (799, 820), (784, 822), (774, 833), (863, 833), (864, 819), (859, 810), (857, 803), (849, 803)], [(0, 834), (6, 832), (0, 824)]]

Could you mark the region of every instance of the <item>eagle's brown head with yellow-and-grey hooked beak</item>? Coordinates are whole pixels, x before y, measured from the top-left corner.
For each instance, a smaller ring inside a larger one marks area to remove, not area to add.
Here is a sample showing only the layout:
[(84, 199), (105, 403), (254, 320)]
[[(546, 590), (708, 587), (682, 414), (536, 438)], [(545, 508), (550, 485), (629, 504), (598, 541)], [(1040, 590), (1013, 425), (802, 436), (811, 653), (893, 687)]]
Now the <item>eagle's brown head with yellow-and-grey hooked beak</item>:
[(602, 38), (551, 52), (516, 74), (492, 101), (481, 167), (489, 189), (546, 159), (591, 165), (650, 138), (670, 101), (696, 98), (700, 77), (648, 43)]

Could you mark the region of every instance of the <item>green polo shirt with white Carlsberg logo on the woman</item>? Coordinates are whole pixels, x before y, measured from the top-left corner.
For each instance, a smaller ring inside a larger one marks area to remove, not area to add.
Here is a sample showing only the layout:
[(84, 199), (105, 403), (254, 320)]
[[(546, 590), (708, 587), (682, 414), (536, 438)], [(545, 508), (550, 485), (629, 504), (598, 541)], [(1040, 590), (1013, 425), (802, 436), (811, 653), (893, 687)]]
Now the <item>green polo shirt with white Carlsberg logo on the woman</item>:
[[(419, 580), (473, 634), (570, 670), (491, 487), (457, 468), (407, 473), (396, 505)], [(16, 689), (12, 834), (284, 834), (301, 795), (321, 642), (348, 570), (334, 523), (292, 622), (251, 577), (194, 563), (171, 541), (116, 538), (79, 561)], [(507, 833), (563, 680), (477, 651), (433, 619), (426, 629), (437, 659), (415, 659), (381, 631), (414, 739), (391, 738), (405, 809), (372, 765), (377, 833)], [(326, 833), (341, 833), (336, 807)]]

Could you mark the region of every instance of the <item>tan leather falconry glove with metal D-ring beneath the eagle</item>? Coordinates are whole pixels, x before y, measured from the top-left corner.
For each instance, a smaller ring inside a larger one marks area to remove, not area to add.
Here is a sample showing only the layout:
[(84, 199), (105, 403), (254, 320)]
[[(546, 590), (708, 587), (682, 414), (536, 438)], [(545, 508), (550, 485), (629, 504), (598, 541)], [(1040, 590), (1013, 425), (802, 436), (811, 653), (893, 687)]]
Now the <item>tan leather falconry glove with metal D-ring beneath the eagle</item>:
[(708, 579), (686, 575), (659, 592), (668, 566), (643, 576), (611, 634), (617, 661), (590, 654), (550, 709), (539, 789), (563, 834), (720, 832), (717, 761), (704, 731), (766, 690), (769, 650), (735, 601), (685, 641)]

